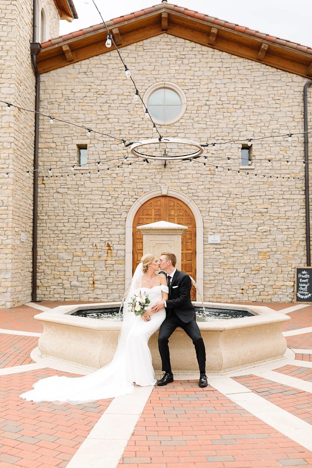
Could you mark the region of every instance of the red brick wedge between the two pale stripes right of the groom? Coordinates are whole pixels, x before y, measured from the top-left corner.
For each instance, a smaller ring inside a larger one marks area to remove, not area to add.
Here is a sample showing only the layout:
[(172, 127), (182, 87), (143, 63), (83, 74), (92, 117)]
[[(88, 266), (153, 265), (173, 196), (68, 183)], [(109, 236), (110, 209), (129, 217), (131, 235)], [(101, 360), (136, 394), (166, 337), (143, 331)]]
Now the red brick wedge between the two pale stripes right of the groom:
[(312, 394), (256, 375), (232, 377), (257, 395), (312, 424)]

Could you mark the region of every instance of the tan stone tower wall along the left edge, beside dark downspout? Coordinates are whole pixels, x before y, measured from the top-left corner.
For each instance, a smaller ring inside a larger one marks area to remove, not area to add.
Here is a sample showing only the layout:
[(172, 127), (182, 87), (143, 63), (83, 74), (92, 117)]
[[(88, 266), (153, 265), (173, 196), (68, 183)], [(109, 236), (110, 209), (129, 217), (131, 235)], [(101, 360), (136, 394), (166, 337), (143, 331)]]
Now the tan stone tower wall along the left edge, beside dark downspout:
[[(54, 2), (51, 0), (50, 2)], [(52, 8), (52, 7), (51, 7)], [(53, 33), (56, 32), (53, 26)], [(1, 99), (26, 109), (35, 106), (32, 40), (32, 1), (6, 2), (0, 11)], [(34, 154), (34, 115), (0, 105), (0, 172), (31, 169)], [(33, 177), (25, 173), (0, 176), (0, 308), (31, 298)], [(25, 241), (21, 241), (21, 233)]]

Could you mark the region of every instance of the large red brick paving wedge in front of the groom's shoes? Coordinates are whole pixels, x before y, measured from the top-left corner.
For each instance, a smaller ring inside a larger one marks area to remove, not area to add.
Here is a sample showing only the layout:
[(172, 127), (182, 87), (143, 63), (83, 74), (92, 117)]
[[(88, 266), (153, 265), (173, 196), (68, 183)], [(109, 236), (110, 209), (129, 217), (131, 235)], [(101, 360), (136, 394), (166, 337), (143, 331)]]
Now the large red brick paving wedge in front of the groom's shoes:
[(118, 468), (272, 467), (285, 461), (307, 467), (312, 453), (215, 388), (176, 381), (153, 389)]

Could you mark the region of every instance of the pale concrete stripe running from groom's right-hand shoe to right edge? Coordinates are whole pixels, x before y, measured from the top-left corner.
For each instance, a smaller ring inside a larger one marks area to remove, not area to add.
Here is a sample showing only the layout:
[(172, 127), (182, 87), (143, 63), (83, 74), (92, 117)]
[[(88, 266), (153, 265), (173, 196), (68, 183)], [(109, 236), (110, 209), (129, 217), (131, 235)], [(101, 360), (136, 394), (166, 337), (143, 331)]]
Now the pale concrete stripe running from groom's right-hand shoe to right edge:
[(312, 450), (312, 425), (302, 421), (298, 417), (279, 408), (275, 404), (265, 400), (260, 395), (255, 395), (249, 388), (229, 377), (224, 379), (208, 379), (208, 383), (219, 392), (230, 398), (242, 408), (258, 417), (264, 423), (270, 425), (286, 437), (297, 442), (307, 450)]

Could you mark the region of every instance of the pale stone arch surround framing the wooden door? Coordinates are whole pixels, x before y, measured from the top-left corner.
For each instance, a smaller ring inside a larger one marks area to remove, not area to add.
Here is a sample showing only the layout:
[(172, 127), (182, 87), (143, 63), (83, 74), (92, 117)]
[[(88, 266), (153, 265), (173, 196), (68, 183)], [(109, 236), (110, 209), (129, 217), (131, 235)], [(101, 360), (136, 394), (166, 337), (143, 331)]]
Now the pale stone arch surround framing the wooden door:
[[(132, 226), (134, 216), (139, 207), (147, 200), (154, 197), (160, 197), (161, 195), (181, 200), (189, 206), (190, 210), (194, 214), (196, 221), (196, 283), (203, 294), (203, 218), (197, 205), (190, 197), (178, 190), (173, 190), (168, 187), (161, 187), (145, 193), (134, 202), (128, 212), (125, 228), (125, 287), (127, 287), (132, 278)], [(200, 300), (198, 294), (197, 300)]]

